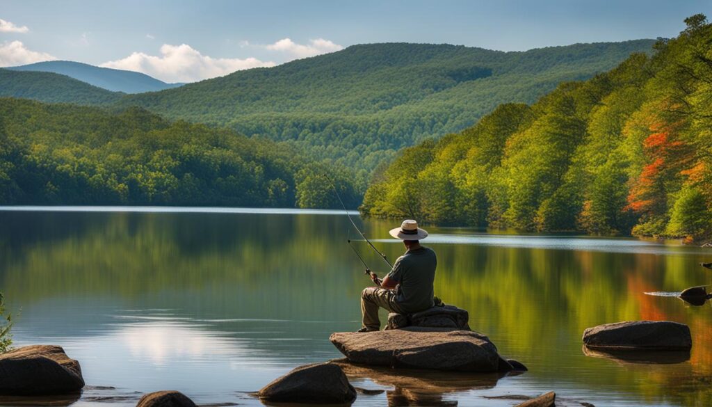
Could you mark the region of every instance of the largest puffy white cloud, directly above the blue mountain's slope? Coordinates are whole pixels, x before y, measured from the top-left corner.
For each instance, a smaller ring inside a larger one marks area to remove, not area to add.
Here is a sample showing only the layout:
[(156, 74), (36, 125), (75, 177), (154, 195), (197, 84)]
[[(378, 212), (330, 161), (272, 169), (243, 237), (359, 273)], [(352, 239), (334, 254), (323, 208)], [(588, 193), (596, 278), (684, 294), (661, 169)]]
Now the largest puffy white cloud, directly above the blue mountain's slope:
[(183, 43), (179, 46), (163, 44), (159, 56), (135, 52), (126, 58), (105, 62), (100, 66), (138, 71), (166, 82), (194, 82), (224, 76), (241, 69), (275, 65), (276, 63), (260, 61), (257, 58), (211, 58)]

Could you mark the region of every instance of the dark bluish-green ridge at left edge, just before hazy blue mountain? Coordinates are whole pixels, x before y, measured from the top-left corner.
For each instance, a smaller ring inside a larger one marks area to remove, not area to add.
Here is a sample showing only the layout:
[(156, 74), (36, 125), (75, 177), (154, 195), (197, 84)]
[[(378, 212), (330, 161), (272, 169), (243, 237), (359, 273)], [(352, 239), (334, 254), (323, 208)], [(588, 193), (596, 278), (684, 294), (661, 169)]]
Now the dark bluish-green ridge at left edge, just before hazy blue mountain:
[(58, 73), (0, 68), (0, 96), (47, 103), (108, 105), (119, 101), (123, 93), (107, 91)]

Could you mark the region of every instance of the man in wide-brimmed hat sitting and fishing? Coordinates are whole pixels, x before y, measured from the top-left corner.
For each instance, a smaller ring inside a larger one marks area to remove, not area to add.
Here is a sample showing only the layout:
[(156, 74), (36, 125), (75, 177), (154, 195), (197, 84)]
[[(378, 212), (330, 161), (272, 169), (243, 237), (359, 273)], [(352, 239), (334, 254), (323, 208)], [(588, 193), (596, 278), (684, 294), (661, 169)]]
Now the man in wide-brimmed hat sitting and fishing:
[(412, 314), (431, 308), (433, 282), (437, 260), (435, 252), (420, 245), (428, 232), (418, 227), (414, 220), (404, 220), (401, 227), (391, 230), (390, 235), (401, 239), (407, 251), (398, 257), (393, 269), (383, 279), (375, 273), (371, 279), (378, 287), (368, 287), (361, 293), (363, 326), (358, 332), (378, 331), (379, 307), (398, 314)]

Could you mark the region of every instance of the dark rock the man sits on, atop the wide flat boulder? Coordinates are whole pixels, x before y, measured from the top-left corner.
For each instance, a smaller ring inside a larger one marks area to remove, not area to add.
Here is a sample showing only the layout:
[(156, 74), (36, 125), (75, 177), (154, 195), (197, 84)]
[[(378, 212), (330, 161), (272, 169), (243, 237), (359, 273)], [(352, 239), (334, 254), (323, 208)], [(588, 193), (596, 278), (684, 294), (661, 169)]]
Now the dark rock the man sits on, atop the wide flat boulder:
[(434, 306), (414, 314), (388, 314), (386, 329), (402, 329), (407, 326), (427, 328), (451, 328), (469, 331), (468, 313), (453, 305)]

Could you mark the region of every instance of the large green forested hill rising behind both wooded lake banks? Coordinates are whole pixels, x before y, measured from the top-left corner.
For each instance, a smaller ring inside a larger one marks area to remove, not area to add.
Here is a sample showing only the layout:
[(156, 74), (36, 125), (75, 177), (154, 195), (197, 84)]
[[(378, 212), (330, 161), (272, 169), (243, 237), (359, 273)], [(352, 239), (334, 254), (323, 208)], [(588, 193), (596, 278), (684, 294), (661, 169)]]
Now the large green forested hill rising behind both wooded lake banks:
[(172, 119), (226, 125), (372, 169), (396, 150), (472, 125), (504, 102), (532, 103), (561, 81), (607, 71), (654, 41), (526, 52), (381, 43), (157, 93), (127, 96)]

